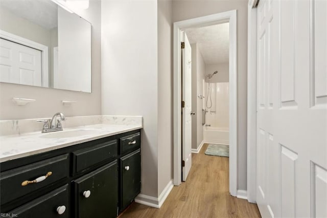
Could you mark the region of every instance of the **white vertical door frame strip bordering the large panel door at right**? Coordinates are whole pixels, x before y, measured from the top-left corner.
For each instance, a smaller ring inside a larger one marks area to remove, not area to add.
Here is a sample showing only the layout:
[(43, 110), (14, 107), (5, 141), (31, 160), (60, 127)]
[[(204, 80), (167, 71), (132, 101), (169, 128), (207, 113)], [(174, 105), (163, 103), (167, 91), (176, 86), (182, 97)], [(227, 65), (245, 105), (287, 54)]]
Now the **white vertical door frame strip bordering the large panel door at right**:
[(256, 5), (249, 0), (247, 11), (247, 200), (256, 203)]

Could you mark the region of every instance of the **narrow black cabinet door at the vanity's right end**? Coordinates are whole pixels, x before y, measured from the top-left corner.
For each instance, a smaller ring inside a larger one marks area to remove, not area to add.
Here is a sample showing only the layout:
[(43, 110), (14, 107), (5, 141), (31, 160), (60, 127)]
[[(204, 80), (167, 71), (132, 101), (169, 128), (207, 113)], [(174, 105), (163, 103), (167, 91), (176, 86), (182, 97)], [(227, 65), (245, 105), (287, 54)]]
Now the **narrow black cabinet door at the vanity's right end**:
[(120, 159), (121, 210), (125, 209), (141, 191), (141, 151), (140, 149)]

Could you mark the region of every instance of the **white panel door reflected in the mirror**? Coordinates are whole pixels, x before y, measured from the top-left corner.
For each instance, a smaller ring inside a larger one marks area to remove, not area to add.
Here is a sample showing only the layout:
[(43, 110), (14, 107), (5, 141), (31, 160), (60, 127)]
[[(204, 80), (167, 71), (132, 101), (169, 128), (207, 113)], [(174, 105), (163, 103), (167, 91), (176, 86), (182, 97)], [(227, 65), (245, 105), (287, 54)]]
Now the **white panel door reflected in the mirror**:
[(41, 51), (0, 38), (0, 81), (42, 86)]

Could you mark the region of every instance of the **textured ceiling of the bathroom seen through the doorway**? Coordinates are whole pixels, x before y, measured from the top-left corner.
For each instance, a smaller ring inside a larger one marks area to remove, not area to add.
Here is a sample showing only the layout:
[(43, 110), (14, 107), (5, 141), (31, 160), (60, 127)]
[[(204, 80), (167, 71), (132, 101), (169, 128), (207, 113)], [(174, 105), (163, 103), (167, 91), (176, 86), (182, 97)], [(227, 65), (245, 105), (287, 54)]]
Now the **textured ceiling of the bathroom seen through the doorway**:
[(229, 24), (185, 30), (191, 44), (197, 43), (206, 64), (227, 63), (229, 56)]

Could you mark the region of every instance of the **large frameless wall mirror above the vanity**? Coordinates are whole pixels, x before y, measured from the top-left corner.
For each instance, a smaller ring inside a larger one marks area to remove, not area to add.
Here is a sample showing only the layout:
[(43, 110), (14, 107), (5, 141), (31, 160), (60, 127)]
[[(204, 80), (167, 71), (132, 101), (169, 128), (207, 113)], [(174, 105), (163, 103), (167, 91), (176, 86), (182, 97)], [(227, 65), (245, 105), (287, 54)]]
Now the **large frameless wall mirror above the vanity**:
[(50, 0), (0, 1), (0, 82), (91, 92), (91, 24)]

